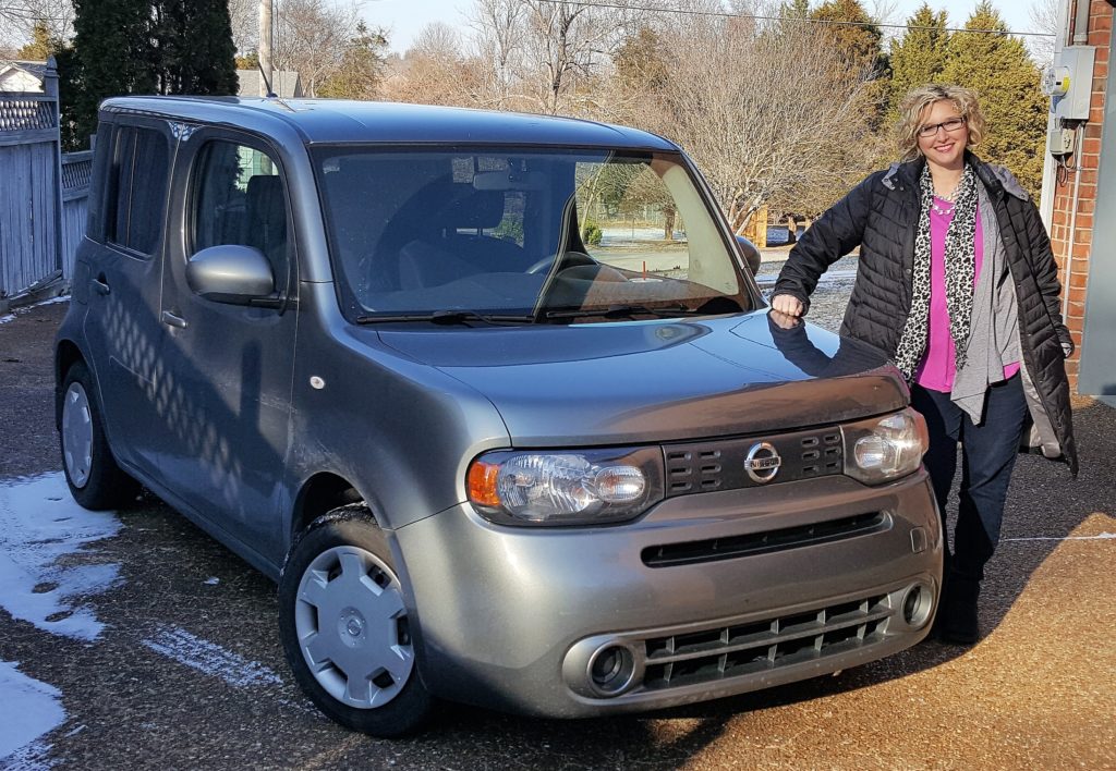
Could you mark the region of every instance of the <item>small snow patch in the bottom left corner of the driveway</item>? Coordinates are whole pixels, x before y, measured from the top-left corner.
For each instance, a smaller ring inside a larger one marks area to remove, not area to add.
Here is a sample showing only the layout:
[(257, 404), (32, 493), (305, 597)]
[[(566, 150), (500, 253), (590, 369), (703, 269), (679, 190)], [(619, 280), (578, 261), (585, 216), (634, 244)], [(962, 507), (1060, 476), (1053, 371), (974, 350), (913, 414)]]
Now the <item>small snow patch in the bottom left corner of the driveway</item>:
[(18, 662), (0, 662), (0, 767), (49, 769), (50, 745), (39, 739), (66, 722), (61, 692), (21, 673)]

